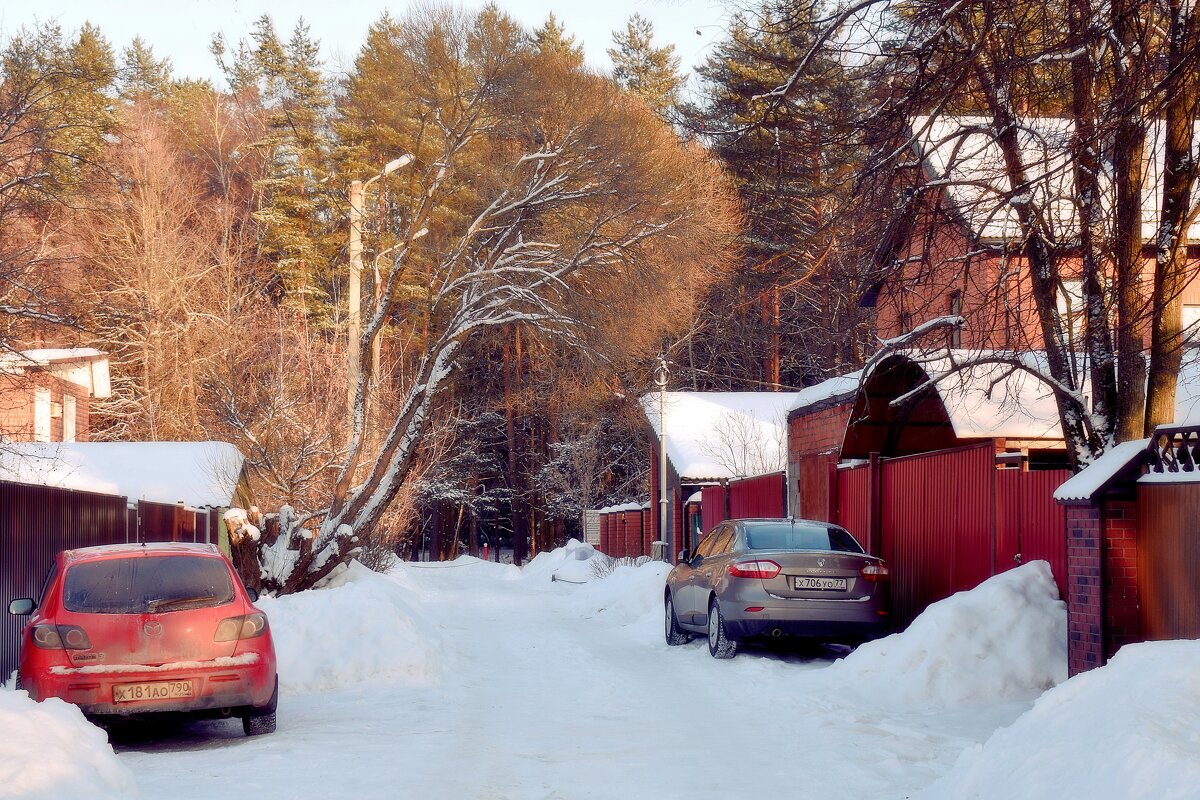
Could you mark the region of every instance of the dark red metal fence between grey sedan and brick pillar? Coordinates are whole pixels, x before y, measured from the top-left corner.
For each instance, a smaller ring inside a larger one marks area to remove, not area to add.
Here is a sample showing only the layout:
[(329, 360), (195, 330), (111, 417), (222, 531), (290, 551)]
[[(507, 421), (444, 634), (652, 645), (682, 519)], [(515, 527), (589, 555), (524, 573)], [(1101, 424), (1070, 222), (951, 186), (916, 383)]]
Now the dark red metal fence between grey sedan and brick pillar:
[(1068, 475), (996, 469), (991, 443), (882, 459), (839, 470), (836, 521), (864, 545), (876, 528), (902, 628), (930, 603), (1022, 561), (1049, 561), (1062, 594), (1066, 516), (1054, 489)]

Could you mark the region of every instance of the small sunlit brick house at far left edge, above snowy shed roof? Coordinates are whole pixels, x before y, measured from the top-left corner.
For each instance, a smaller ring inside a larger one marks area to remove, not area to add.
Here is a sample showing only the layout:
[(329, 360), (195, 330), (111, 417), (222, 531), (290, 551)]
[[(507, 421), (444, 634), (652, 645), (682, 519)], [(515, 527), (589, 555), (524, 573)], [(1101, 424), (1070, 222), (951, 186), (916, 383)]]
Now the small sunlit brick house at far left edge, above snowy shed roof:
[(109, 395), (108, 356), (100, 350), (0, 354), (0, 439), (88, 441), (91, 399)]

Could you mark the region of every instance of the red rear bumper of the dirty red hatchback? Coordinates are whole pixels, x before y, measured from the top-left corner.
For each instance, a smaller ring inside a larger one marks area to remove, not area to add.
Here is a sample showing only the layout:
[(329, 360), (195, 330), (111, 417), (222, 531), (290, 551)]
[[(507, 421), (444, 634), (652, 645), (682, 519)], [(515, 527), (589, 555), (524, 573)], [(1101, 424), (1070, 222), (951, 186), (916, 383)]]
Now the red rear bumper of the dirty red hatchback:
[[(274, 658), (258, 657), (252, 663), (191, 662), (178, 669), (112, 670), (88, 667), (54, 669), (32, 676), (23, 675), (25, 688), (34, 699), (58, 697), (78, 705), (88, 715), (132, 716), (168, 711), (206, 711), (241, 706), (263, 706), (275, 692)], [(115, 687), (130, 684), (191, 681), (191, 697), (121, 700)]]

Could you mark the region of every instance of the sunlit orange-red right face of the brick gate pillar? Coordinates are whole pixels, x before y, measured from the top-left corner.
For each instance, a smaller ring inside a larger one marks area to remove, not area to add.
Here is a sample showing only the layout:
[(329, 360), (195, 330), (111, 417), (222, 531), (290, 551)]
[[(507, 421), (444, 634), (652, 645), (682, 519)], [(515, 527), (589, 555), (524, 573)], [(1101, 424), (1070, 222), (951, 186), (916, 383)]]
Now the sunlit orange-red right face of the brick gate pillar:
[(1138, 622), (1138, 504), (1104, 505), (1104, 658), (1141, 640)]

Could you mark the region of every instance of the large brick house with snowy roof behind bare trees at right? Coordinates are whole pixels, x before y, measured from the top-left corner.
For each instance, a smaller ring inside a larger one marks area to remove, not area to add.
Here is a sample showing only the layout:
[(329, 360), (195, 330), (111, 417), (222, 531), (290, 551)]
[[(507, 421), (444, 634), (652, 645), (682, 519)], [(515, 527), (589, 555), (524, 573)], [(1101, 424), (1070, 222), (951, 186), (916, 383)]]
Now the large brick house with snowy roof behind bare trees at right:
[[(1074, 192), (1068, 163), (1072, 122), (1028, 120), (1021, 132), (1025, 161), (1031, 166), (1027, 193), (1045, 210), (1045, 225), (1057, 241), (1078, 239)], [(1028, 264), (1021, 254), (1022, 235), (1009, 194), (1000, 149), (984, 133), (985, 118), (946, 116), (913, 120), (913, 149), (920, 162), (919, 181), (934, 190), (913, 197), (907, 218), (896, 219), (877, 260), (889, 275), (871, 293), (876, 333), (887, 339), (922, 323), (948, 314), (961, 315), (961, 330), (944, 333), (944, 344), (974, 350), (1038, 350), (1043, 347), (1032, 301)], [(1146, 164), (1142, 203), (1145, 276), (1153, 273), (1153, 241), (1158, 207), (1157, 175), (1162, 170), (1162, 137), (1150, 137), (1158, 150)], [(1152, 146), (1154, 146), (1152, 144)], [(1200, 269), (1200, 223), (1188, 229), (1189, 255)], [(890, 264), (887, 261), (890, 260)], [(1063, 285), (1058, 309), (1080, 319), (1082, 289), (1079, 258), (1060, 263)], [(1183, 290), (1183, 324), (1200, 323), (1200, 283)], [(1069, 326), (1072, 343), (1081, 349), (1081, 321)], [(1146, 331), (1148, 342), (1148, 330)], [(935, 342), (926, 342), (935, 344)]]

